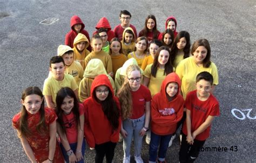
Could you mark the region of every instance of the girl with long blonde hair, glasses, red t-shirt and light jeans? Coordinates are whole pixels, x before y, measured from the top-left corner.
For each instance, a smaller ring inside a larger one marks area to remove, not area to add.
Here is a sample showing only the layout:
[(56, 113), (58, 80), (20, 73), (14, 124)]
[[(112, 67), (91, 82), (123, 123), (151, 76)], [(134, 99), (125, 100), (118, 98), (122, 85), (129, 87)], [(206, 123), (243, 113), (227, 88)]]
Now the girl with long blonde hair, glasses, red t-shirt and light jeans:
[(143, 136), (149, 129), (151, 94), (147, 87), (140, 84), (141, 79), (140, 68), (137, 65), (128, 66), (125, 82), (118, 93), (123, 119), (121, 134), (124, 137), (124, 163), (130, 162), (132, 138), (134, 159), (137, 163), (143, 162), (140, 152)]

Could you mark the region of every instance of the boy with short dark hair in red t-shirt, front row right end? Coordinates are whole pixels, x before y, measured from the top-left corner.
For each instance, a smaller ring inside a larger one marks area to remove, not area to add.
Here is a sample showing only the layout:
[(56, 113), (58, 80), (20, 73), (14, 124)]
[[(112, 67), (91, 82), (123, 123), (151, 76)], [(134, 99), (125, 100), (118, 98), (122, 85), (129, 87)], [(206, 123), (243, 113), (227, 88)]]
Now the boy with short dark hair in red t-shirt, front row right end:
[(210, 93), (212, 84), (212, 75), (206, 71), (200, 72), (196, 78), (197, 90), (186, 96), (186, 121), (181, 133), (180, 162), (196, 160), (200, 148), (210, 135), (214, 117), (220, 115), (219, 102)]

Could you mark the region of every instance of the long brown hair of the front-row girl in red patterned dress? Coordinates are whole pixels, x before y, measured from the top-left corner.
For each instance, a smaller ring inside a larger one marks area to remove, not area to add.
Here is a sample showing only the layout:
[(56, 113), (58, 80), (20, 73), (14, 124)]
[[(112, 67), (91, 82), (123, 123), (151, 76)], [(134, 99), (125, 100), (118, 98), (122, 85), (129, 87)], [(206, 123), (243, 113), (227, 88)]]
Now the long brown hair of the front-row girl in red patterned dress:
[[(21, 99), (24, 101), (27, 96), (30, 96), (32, 94), (36, 94), (36, 95), (40, 96), (41, 98), (44, 98), (42, 91), (37, 86), (31, 86), (31, 87), (26, 88), (22, 92)], [(45, 115), (44, 115), (44, 99), (42, 101), (39, 113), (40, 113), (40, 120), (39, 120), (39, 123), (36, 124), (36, 130), (40, 134), (43, 134), (44, 129), (46, 129)], [(21, 130), (21, 134), (18, 135), (19, 138), (23, 137), (23, 135), (26, 137), (26, 136), (32, 134), (28, 127), (27, 118), (28, 118), (28, 112), (26, 111), (26, 108), (23, 105), (21, 108), (21, 118), (19, 119), (19, 130)]]

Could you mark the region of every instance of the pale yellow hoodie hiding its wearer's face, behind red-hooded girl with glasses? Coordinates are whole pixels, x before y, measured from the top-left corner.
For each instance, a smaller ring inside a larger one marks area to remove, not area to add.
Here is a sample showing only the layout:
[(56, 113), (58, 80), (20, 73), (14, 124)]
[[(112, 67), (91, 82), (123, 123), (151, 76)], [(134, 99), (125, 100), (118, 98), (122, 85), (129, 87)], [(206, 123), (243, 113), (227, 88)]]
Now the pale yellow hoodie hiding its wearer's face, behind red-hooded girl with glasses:
[(92, 81), (99, 74), (106, 74), (109, 78), (110, 83), (113, 87), (114, 94), (116, 94), (116, 86), (114, 85), (114, 80), (109, 76), (105, 70), (105, 67), (100, 59), (91, 59), (87, 64), (84, 71), (84, 78), (81, 80), (78, 90), (78, 96), (80, 102), (83, 102), (86, 98), (91, 96), (91, 85)]

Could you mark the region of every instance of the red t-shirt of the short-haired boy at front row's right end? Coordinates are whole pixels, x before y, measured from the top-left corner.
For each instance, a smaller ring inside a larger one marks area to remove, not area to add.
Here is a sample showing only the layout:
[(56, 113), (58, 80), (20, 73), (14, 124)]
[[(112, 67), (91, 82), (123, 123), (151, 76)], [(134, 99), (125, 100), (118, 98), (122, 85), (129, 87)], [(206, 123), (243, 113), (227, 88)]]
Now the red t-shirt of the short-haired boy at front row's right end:
[[(187, 94), (185, 100), (185, 107), (190, 110), (191, 116), (191, 133), (205, 122), (208, 116), (219, 116), (219, 102), (210, 94), (206, 101), (200, 101), (197, 98), (197, 90), (191, 91)], [(211, 125), (208, 126), (205, 131), (197, 135), (197, 140), (206, 140), (210, 135)], [(186, 121), (183, 125), (182, 132), (187, 135)]]

